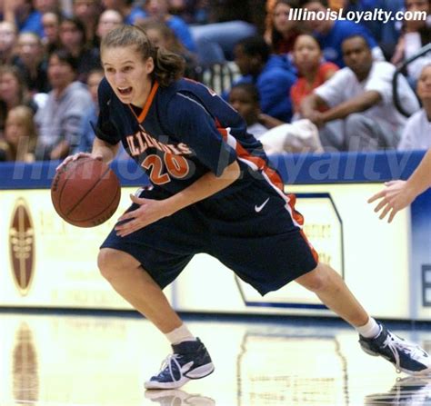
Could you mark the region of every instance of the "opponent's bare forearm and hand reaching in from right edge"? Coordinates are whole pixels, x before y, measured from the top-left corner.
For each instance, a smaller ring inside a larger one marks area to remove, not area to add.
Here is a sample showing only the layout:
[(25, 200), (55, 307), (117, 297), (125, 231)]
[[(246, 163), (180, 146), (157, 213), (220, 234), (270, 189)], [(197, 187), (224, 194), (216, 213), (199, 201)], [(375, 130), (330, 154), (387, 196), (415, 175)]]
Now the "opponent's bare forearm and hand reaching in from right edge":
[(385, 183), (386, 188), (372, 196), (368, 203), (380, 199), (375, 212), (380, 210), (379, 218), (384, 219), (390, 212), (388, 223), (391, 223), (396, 213), (411, 204), (420, 193), (431, 187), (431, 149), (428, 150), (419, 166), (407, 181), (391, 181)]

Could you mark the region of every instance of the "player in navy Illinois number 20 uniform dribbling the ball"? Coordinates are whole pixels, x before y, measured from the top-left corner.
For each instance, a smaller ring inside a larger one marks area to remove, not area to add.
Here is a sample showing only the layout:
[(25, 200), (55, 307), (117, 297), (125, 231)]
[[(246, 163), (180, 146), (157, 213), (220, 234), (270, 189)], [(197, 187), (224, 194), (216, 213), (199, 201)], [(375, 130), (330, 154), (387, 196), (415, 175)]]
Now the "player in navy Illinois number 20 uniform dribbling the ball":
[(98, 256), (115, 291), (172, 344), (145, 388), (178, 388), (214, 371), (204, 344), (162, 292), (195, 253), (215, 256), (262, 295), (296, 281), (356, 328), (366, 352), (397, 370), (431, 371), (426, 352), (369, 317), (338, 273), (318, 262), (295, 196), (283, 193), (262, 145), (218, 95), (181, 78), (181, 58), (129, 25), (105, 36), (101, 58), (105, 80), (90, 156), (108, 163), (122, 143), (152, 183), (131, 196)]

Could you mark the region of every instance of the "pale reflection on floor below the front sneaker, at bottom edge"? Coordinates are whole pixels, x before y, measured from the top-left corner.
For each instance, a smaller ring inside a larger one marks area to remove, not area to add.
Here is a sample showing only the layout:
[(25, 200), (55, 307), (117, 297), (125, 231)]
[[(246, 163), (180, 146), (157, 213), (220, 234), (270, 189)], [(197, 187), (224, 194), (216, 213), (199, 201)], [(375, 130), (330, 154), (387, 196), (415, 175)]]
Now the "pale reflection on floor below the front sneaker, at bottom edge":
[(160, 406), (216, 406), (214, 399), (206, 396), (189, 394), (178, 389), (145, 391), (145, 399), (156, 401)]

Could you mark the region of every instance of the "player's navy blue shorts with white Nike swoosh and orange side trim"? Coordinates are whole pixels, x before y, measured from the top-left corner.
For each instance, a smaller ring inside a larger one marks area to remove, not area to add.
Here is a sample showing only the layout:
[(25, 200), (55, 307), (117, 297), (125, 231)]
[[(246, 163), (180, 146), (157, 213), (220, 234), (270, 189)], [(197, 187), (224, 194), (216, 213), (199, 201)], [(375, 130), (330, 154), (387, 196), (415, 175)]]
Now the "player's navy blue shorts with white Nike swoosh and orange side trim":
[[(162, 200), (168, 194), (153, 189), (140, 197)], [(316, 268), (318, 256), (299, 227), (302, 222), (294, 195), (254, 179), (234, 193), (185, 207), (125, 237), (113, 230), (101, 248), (135, 257), (162, 289), (195, 253), (207, 253), (264, 295)]]

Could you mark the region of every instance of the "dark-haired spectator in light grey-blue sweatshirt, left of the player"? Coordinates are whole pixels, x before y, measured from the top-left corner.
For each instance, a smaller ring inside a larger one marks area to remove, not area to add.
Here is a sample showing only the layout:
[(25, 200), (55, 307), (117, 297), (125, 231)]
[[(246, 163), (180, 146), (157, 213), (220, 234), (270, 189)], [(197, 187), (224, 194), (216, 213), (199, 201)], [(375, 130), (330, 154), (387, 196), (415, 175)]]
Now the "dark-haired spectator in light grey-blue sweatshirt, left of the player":
[(93, 101), (86, 85), (76, 80), (77, 68), (78, 61), (65, 49), (49, 56), (48, 80), (53, 90), (35, 114), (36, 160), (64, 158), (81, 138), (81, 123)]

